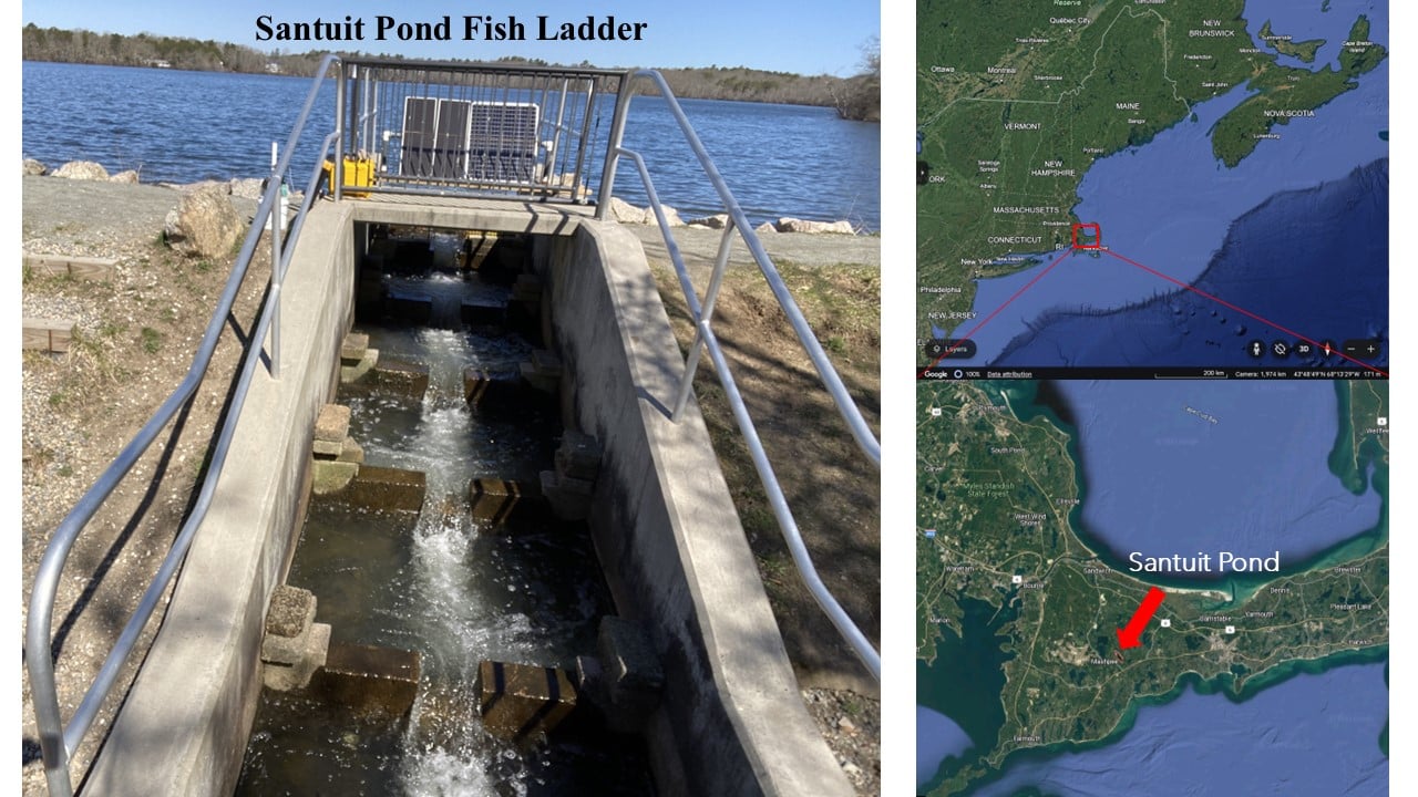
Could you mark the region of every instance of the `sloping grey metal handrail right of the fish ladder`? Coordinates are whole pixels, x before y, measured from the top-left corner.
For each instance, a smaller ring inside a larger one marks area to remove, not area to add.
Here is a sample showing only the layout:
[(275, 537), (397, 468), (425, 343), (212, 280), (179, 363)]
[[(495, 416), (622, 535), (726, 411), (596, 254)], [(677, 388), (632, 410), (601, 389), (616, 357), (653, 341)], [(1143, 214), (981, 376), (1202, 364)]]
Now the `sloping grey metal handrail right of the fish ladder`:
[[(675, 243), (675, 238), (669, 231), (669, 223), (659, 204), (659, 196), (655, 193), (655, 186), (649, 179), (649, 172), (645, 169), (644, 159), (638, 153), (621, 147), (621, 140), (625, 132), (625, 111), (630, 105), (632, 94), (630, 91), (630, 84), (632, 79), (641, 77), (654, 81), (661, 96), (664, 96), (668, 102), (669, 111), (679, 123), (679, 129), (683, 133), (685, 140), (699, 159), (700, 167), (709, 177), (715, 190), (719, 193), (725, 211), (729, 214), (729, 224), (725, 227), (723, 238), (719, 243), (719, 254), (715, 260), (715, 269), (709, 281), (709, 288), (705, 292), (703, 305), (700, 305), (693, 281), (689, 278), (689, 272), (685, 268), (683, 258), (679, 254), (679, 245)], [(733, 197), (729, 186), (725, 184), (723, 177), (715, 167), (709, 153), (705, 152), (703, 143), (695, 133), (693, 126), (679, 108), (679, 102), (669, 89), (669, 84), (665, 82), (665, 78), (659, 72), (654, 69), (640, 69), (627, 74), (625, 81), (621, 84), (621, 94), (617, 98), (610, 146), (611, 150), (610, 156), (605, 159), (605, 173), (601, 177), (600, 186), (601, 201), (596, 208), (596, 217), (601, 220), (607, 217), (607, 213), (610, 211), (608, 197), (611, 196), (615, 179), (615, 167), (618, 166), (621, 156), (630, 157), (634, 160), (635, 167), (640, 172), (640, 177), (645, 184), (645, 194), (649, 199), (649, 207), (654, 211), (655, 221), (659, 224), (659, 231), (665, 238), (665, 250), (669, 254), (669, 260), (675, 267), (676, 275), (679, 277), (679, 286), (685, 294), (689, 315), (695, 322), (695, 343), (688, 355), (689, 360), (685, 363), (685, 374), (679, 383), (679, 394), (676, 397), (672, 416), (674, 420), (679, 420), (679, 416), (689, 400), (689, 391), (692, 389), (695, 372), (699, 366), (700, 352), (708, 350), (709, 357), (713, 362), (715, 372), (719, 374), (719, 383), (723, 386), (725, 396), (729, 400), (729, 407), (733, 410), (735, 420), (739, 423), (739, 430), (743, 434), (744, 442), (749, 445), (753, 467), (757, 469), (759, 479), (763, 482), (763, 489), (767, 492), (769, 505), (773, 508), (773, 515), (778, 520), (778, 528), (783, 532), (783, 539), (787, 542), (790, 553), (793, 554), (793, 562), (797, 564), (798, 574), (803, 577), (808, 591), (817, 600), (828, 620), (832, 621), (832, 625), (837, 627), (838, 632), (842, 634), (847, 642), (852, 647), (852, 651), (862, 659), (862, 664), (866, 665), (872, 676), (876, 678), (876, 681), (881, 681), (881, 654), (872, 647), (871, 641), (866, 640), (866, 635), (862, 634), (861, 628), (856, 627), (852, 618), (848, 617), (847, 611), (842, 610), (842, 606), (837, 601), (832, 593), (828, 591), (827, 586), (822, 584), (822, 580), (817, 574), (813, 557), (808, 554), (807, 546), (803, 542), (803, 535), (798, 532), (797, 520), (793, 519), (793, 512), (787, 505), (787, 498), (783, 495), (783, 488), (778, 485), (778, 479), (773, 472), (773, 465), (769, 462), (767, 454), (763, 450), (763, 442), (753, 425), (753, 418), (749, 416), (743, 397), (739, 394), (739, 387), (733, 380), (733, 374), (729, 372), (729, 363), (723, 356), (719, 339), (715, 336), (710, 325), (715, 299), (718, 298), (719, 286), (723, 282), (723, 274), (729, 262), (729, 250), (733, 244), (732, 234), (735, 231), (739, 233), (739, 237), (753, 255), (754, 262), (757, 262), (759, 271), (763, 272), (763, 278), (767, 281), (769, 288), (777, 298), (778, 306), (781, 306), (784, 315), (787, 315), (788, 323), (793, 326), (793, 332), (807, 350), (808, 359), (811, 359), (813, 364), (817, 367), (818, 377), (832, 396), (832, 401), (837, 404), (838, 413), (852, 431), (852, 438), (856, 441), (858, 448), (861, 448), (862, 452), (866, 454), (868, 459), (871, 459), (871, 462), (878, 468), (881, 468), (881, 442), (876, 440), (876, 435), (872, 434), (871, 427), (866, 425), (866, 420), (862, 417), (856, 403), (847, 391), (847, 386), (842, 384), (842, 379), (837, 374), (837, 369), (832, 367), (832, 363), (827, 359), (827, 353), (822, 350), (821, 343), (818, 343), (817, 336), (808, 326), (807, 319), (803, 318), (803, 311), (798, 309), (791, 291), (788, 291), (787, 285), (783, 282), (783, 277), (773, 265), (773, 260), (769, 258), (767, 251), (764, 251), (763, 244), (759, 241), (759, 235), (753, 231), (747, 217), (743, 214), (743, 208), (739, 207), (739, 201)]]

